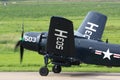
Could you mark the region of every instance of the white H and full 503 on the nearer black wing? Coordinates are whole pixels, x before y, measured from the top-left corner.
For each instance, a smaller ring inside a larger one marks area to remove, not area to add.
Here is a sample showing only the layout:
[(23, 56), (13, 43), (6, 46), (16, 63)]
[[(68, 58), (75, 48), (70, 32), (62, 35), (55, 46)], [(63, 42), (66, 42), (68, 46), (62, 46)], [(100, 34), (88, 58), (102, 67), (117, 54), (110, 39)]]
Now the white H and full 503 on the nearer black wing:
[(57, 36), (56, 49), (63, 50), (64, 39), (67, 38), (67, 36), (65, 34), (67, 34), (67, 33), (68, 33), (67, 31), (55, 29), (54, 35)]

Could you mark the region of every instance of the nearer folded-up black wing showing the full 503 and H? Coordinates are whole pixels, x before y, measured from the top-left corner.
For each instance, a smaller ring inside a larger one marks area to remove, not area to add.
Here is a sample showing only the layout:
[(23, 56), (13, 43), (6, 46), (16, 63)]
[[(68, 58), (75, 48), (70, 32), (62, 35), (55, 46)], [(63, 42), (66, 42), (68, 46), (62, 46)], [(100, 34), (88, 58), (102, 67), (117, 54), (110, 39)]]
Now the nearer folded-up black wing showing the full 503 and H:
[(72, 22), (62, 17), (51, 17), (47, 52), (64, 57), (73, 57), (74, 46)]

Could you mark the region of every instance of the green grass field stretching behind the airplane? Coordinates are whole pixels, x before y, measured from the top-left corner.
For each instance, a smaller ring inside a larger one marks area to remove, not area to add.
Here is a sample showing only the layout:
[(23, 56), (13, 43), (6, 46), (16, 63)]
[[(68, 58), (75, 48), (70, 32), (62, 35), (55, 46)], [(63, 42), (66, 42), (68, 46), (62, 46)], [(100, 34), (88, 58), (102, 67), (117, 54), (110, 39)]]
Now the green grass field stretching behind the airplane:
[[(19, 51), (13, 52), (21, 35), (21, 24), (25, 31), (47, 31), (51, 16), (63, 16), (73, 21), (77, 30), (88, 11), (98, 11), (108, 16), (103, 40), (120, 44), (120, 2), (44, 2), (16, 1), (0, 4), (0, 71), (38, 71), (43, 66), (43, 57), (25, 51), (23, 63), (19, 62)], [(51, 68), (51, 64), (49, 68)], [(120, 72), (120, 68), (82, 64), (63, 71)]]

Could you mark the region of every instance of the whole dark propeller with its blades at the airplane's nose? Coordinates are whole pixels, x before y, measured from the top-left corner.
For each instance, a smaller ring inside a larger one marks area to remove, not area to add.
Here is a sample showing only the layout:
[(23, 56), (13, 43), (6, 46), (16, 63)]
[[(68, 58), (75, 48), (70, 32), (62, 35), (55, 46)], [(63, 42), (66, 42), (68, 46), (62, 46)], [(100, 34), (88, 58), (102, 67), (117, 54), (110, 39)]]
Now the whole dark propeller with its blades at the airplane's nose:
[(23, 54), (24, 54), (24, 48), (23, 48), (23, 45), (22, 45), (23, 35), (24, 35), (24, 24), (22, 24), (21, 39), (16, 43), (15, 49), (14, 49), (16, 51), (16, 49), (20, 46), (20, 63), (22, 63)]

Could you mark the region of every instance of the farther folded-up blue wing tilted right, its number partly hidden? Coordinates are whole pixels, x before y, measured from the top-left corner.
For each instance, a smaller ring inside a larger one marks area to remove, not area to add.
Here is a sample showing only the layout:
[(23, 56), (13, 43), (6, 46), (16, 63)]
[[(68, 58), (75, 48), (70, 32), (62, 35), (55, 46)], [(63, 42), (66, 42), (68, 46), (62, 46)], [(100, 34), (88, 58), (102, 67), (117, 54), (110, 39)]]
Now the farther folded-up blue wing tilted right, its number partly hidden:
[[(101, 40), (107, 17), (98, 12), (89, 12), (77, 30), (77, 35), (88, 39)], [(80, 35), (80, 36), (81, 36)]]

